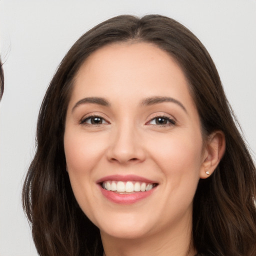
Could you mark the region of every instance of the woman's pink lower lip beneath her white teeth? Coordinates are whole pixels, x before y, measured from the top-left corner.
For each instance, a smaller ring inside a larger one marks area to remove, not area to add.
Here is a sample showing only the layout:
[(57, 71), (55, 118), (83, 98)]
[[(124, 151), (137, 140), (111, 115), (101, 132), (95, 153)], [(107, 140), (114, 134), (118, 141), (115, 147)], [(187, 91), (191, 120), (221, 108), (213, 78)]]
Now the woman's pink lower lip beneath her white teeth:
[(121, 204), (131, 204), (135, 203), (137, 201), (140, 201), (147, 196), (149, 196), (153, 190), (154, 187), (148, 191), (144, 192), (134, 192), (134, 193), (129, 193), (129, 194), (119, 194), (114, 191), (109, 191), (100, 186), (100, 190), (102, 194), (110, 201), (115, 202), (115, 203), (121, 203)]

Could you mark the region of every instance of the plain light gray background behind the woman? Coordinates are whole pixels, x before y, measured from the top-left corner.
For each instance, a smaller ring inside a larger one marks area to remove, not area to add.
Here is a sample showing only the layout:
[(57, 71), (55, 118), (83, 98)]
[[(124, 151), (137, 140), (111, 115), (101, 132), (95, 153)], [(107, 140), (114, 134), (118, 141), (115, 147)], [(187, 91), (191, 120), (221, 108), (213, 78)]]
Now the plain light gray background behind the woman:
[(125, 13), (167, 15), (199, 37), (256, 151), (256, 0), (0, 0), (0, 256), (37, 255), (20, 192), (47, 84), (83, 32)]

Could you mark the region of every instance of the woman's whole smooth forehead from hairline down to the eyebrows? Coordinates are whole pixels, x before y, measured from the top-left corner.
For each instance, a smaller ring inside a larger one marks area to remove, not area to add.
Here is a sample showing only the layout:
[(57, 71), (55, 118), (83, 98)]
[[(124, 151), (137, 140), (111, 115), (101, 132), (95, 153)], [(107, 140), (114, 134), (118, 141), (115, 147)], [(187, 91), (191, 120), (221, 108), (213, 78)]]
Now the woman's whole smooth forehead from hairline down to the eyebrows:
[(113, 43), (80, 66), (67, 110), (85, 97), (103, 97), (120, 107), (154, 96), (172, 97), (198, 115), (187, 79), (169, 53), (147, 42)]

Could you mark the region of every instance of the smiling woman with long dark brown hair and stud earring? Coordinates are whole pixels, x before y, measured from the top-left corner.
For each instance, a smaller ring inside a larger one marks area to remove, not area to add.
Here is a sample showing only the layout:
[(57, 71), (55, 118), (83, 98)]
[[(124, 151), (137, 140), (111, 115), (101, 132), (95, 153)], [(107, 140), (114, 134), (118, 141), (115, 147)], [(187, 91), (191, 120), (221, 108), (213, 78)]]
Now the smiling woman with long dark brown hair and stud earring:
[(255, 166), (206, 49), (160, 15), (82, 35), (43, 99), (23, 206), (40, 255), (256, 255)]

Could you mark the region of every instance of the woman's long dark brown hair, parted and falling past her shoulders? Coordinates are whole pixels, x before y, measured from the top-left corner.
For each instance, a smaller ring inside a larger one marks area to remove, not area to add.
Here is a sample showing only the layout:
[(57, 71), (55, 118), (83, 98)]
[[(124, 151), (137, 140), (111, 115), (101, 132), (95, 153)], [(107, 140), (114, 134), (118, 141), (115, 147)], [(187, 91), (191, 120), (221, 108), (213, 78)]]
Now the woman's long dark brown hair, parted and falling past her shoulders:
[(235, 125), (207, 50), (179, 22), (160, 15), (121, 15), (83, 34), (53, 76), (41, 104), (36, 152), (23, 186), (23, 207), (40, 255), (102, 255), (98, 228), (81, 211), (65, 170), (64, 121), (74, 76), (84, 60), (113, 42), (150, 42), (181, 66), (202, 134), (222, 130), (226, 150), (213, 174), (199, 180), (193, 200), (193, 245), (198, 255), (256, 255), (256, 170)]

